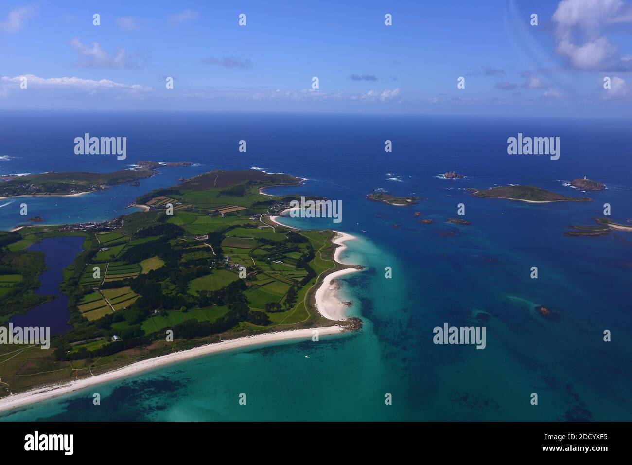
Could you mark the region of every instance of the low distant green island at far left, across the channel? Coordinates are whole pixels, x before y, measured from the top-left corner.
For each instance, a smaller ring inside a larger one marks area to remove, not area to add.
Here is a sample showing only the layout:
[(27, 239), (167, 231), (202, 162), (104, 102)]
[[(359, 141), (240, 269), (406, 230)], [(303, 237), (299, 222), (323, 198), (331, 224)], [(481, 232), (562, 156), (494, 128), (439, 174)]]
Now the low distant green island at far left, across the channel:
[(111, 173), (89, 173), (72, 171), (56, 173), (48, 171), (37, 175), (6, 176), (0, 184), (0, 198), (18, 195), (77, 195), (94, 190), (106, 189), (109, 185), (138, 182), (149, 178), (161, 166), (190, 166), (187, 162), (156, 163), (139, 161), (132, 170), (113, 171)]

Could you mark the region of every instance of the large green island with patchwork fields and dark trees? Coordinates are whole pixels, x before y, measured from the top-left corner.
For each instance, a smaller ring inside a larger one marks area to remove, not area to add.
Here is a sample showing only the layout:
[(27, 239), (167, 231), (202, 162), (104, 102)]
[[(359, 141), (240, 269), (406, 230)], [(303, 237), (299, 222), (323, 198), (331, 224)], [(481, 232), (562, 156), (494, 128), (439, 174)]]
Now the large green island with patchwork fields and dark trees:
[(49, 350), (0, 345), (0, 397), (255, 333), (324, 325), (357, 330), (359, 319), (332, 321), (315, 307), (324, 277), (350, 268), (333, 259), (336, 233), (270, 220), (297, 197), (259, 190), (288, 184), (301, 179), (210, 171), (138, 197), (147, 211), (1, 232), (0, 326), (54, 297), (33, 294), (46, 265), (44, 254), (28, 245), (82, 237), (83, 250), (59, 286), (69, 297), (73, 328), (52, 337)]

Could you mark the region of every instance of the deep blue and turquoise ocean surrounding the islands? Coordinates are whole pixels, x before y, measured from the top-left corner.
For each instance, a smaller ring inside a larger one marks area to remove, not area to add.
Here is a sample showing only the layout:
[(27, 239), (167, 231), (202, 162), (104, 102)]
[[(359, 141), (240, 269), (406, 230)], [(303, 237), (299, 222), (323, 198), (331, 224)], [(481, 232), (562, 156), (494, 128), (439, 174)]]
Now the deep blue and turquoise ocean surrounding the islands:
[[(112, 171), (190, 161), (140, 187), (0, 201), (0, 227), (98, 220), (134, 197), (216, 168), (308, 178), (270, 193), (343, 201), (343, 221), (290, 219), (352, 233), (343, 278), (360, 333), (200, 357), (5, 414), (10, 420), (630, 420), (632, 232), (569, 237), (611, 204), (632, 220), (632, 122), (557, 118), (212, 113), (0, 113), (0, 174)], [(78, 156), (73, 139), (126, 136), (128, 158)], [(508, 155), (507, 137), (560, 137), (560, 158)], [(246, 140), (247, 152), (238, 152)], [(392, 140), (392, 152), (384, 141)], [(437, 177), (444, 171), (466, 175)], [(565, 186), (587, 176), (597, 193)], [(590, 203), (479, 199), (464, 189), (531, 184)], [(398, 208), (365, 195), (419, 195)], [(19, 201), (19, 202), (18, 202)], [(465, 204), (465, 216), (457, 205)], [(414, 216), (420, 211), (422, 216)], [(446, 223), (465, 218), (471, 225)], [(431, 218), (434, 224), (419, 220)], [(630, 224), (630, 223), (626, 223)], [(397, 226), (394, 226), (397, 225)], [(392, 278), (384, 276), (392, 268)], [(531, 279), (532, 266), (538, 279)], [(557, 319), (535, 313), (545, 305)], [(484, 312), (482, 323), (475, 316)], [(484, 325), (484, 350), (435, 345), (433, 328)], [(604, 330), (612, 333), (604, 342)], [(310, 358), (306, 358), (308, 355)], [(1, 368), (0, 368), (1, 376)], [(92, 394), (99, 392), (100, 406)], [(238, 403), (247, 395), (247, 404)], [(538, 404), (532, 405), (532, 393)], [(385, 405), (386, 394), (392, 405)]]

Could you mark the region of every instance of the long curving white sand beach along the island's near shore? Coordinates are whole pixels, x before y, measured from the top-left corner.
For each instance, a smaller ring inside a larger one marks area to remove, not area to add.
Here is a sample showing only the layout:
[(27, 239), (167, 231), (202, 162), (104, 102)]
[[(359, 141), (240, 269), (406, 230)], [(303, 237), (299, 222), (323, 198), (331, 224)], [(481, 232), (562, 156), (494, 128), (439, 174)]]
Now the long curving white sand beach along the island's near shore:
[(61, 385), (37, 388), (26, 392), (21, 392), (20, 394), (9, 395), (8, 397), (0, 399), (0, 412), (27, 406), (28, 404), (33, 404), (34, 402), (41, 402), (42, 400), (59, 397), (60, 395), (69, 394), (71, 392), (75, 392), (83, 388), (88, 388), (100, 383), (106, 383), (107, 381), (126, 378), (127, 376), (136, 375), (137, 373), (140, 373), (142, 371), (158, 368), (160, 366), (164, 366), (174, 362), (188, 360), (193, 357), (214, 354), (216, 352), (222, 352), (224, 350), (241, 349), (244, 347), (250, 347), (252, 345), (270, 344), (287, 340), (308, 339), (312, 337), (312, 332), (314, 330), (318, 330), (319, 337), (324, 335), (337, 334), (343, 331), (340, 326), (327, 326), (324, 328), (307, 328), (303, 330), (257, 334), (253, 336), (246, 336), (217, 342), (216, 344), (202, 345), (193, 349), (181, 350), (180, 352), (174, 352), (173, 354), (167, 354), (164, 356), (143, 360), (124, 366), (123, 368), (115, 369), (107, 373), (102, 373), (101, 375), (91, 376), (90, 378), (71, 381), (70, 383), (64, 383)]

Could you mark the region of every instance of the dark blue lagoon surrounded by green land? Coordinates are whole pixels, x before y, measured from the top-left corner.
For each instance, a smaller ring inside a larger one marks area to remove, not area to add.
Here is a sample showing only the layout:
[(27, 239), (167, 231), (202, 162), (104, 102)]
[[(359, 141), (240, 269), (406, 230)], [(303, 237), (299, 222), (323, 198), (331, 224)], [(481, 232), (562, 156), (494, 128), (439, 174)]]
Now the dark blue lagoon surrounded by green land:
[(63, 334), (73, 326), (68, 325), (68, 295), (59, 291), (61, 270), (73, 263), (82, 251), (83, 237), (47, 237), (29, 247), (33, 252), (44, 252), (47, 270), (39, 276), (42, 285), (35, 291), (37, 295), (54, 295), (52, 301), (33, 307), (27, 313), (16, 315), (9, 320), (14, 326), (49, 326), (51, 335)]

